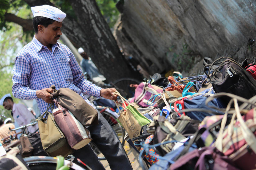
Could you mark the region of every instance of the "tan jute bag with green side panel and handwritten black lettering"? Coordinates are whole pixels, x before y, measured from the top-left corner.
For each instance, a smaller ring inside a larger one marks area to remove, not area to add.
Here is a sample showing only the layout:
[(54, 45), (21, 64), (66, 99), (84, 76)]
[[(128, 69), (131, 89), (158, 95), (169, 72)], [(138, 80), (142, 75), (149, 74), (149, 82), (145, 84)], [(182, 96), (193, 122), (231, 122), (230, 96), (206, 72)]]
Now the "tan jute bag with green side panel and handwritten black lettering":
[(123, 107), (122, 105), (115, 102), (118, 109), (119, 107), (122, 107), (124, 109), (123, 111), (119, 110), (120, 116), (117, 120), (121, 123), (123, 128), (125, 128), (131, 139), (138, 137), (141, 131), (141, 127), (143, 125), (149, 124), (150, 120), (138, 111), (137, 108), (139, 106), (136, 103), (129, 103), (124, 97), (119, 94), (119, 92), (114, 92), (114, 95), (118, 95), (123, 103), (124, 101), (128, 103), (128, 106)]

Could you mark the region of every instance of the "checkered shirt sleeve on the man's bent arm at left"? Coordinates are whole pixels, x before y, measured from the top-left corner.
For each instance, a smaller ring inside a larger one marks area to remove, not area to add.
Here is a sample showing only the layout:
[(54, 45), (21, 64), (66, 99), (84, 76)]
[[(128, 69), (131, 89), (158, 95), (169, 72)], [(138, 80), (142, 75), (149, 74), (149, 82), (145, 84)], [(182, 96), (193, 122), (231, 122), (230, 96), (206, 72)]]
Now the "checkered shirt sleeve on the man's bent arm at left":
[(13, 74), (13, 96), (24, 100), (38, 99), (36, 90), (31, 90), (27, 86), (30, 75), (30, 65), (23, 55), (18, 54), (16, 56)]

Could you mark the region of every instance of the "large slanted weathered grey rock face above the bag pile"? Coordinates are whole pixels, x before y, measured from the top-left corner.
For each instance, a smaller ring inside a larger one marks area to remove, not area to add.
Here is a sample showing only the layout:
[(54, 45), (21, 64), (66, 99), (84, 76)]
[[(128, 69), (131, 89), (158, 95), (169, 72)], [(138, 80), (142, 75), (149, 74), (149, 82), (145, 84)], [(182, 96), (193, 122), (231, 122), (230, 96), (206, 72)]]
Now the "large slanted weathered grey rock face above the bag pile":
[(255, 1), (121, 0), (117, 7), (119, 47), (151, 74), (188, 72), (203, 57), (255, 57)]

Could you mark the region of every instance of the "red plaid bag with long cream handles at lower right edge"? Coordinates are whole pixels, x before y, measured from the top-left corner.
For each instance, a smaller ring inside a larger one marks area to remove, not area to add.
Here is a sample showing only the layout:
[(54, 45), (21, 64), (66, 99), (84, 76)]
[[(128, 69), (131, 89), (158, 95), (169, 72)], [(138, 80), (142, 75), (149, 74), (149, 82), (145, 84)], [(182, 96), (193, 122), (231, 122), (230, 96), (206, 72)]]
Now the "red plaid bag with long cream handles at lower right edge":
[[(251, 160), (256, 160), (256, 96), (247, 100), (233, 94), (219, 93), (213, 97), (223, 95), (231, 97), (231, 100), (227, 105), (214, 146), (229, 156), (240, 169), (255, 169), (255, 161)], [(238, 101), (244, 103), (239, 107)], [(235, 110), (230, 109), (233, 103)], [(245, 112), (251, 106), (254, 108), (241, 116), (241, 112)], [(231, 123), (225, 128), (228, 113), (233, 116)]]

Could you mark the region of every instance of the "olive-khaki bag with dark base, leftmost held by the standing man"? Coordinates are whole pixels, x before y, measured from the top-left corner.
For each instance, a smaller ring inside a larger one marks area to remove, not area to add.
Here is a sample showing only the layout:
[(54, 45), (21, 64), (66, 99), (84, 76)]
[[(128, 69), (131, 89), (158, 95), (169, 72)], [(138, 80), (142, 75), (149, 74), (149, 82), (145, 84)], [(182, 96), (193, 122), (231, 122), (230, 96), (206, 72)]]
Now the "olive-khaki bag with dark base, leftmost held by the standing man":
[[(66, 157), (67, 155), (71, 154), (73, 150), (67, 143), (62, 131), (54, 121), (52, 113), (47, 112), (52, 105), (53, 104), (51, 104), (37, 120), (43, 150), (49, 156), (62, 155), (63, 157)], [(45, 114), (46, 116), (44, 118), (43, 116)]]

